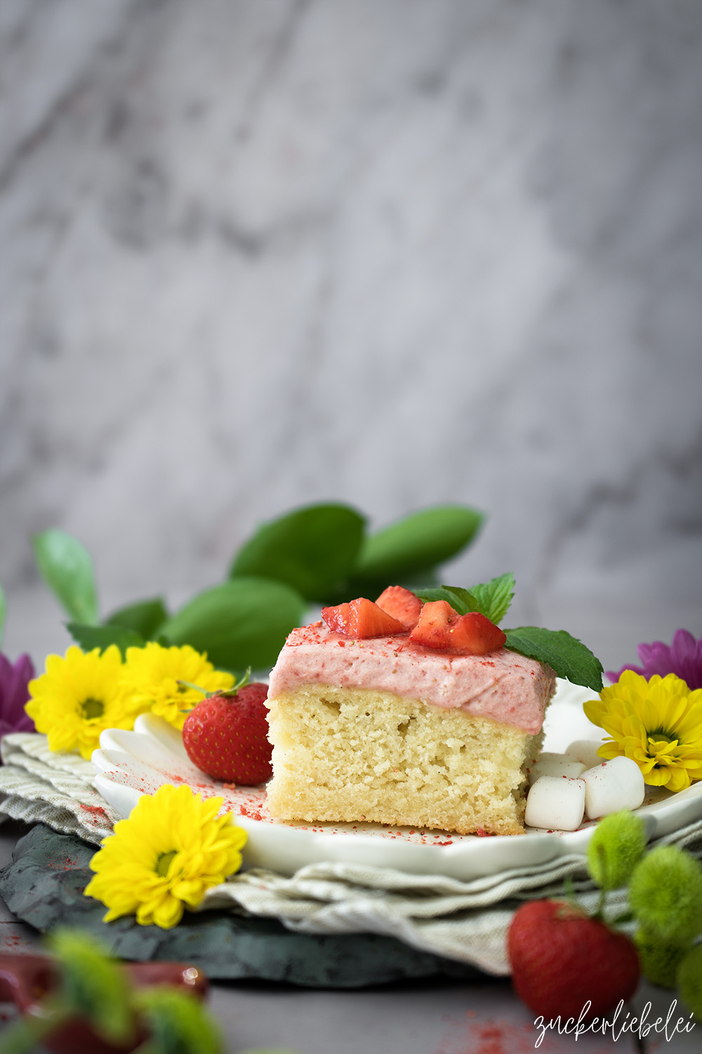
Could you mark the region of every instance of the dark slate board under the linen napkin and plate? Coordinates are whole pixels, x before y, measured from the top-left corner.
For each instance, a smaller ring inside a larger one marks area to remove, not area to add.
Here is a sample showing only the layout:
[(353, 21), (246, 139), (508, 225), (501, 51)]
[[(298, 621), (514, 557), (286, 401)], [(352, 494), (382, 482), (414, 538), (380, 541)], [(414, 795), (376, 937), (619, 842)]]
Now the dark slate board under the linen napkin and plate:
[(18, 918), (42, 932), (57, 923), (79, 926), (120, 958), (190, 962), (213, 979), (347, 989), (413, 978), (484, 977), (474, 967), (392, 937), (297, 934), (277, 919), (207, 912), (186, 913), (173, 930), (137, 925), (133, 918), (104, 923), (104, 905), (83, 896), (95, 852), (73, 835), (37, 824), (17, 842), (13, 863), (0, 871), (0, 895)]

